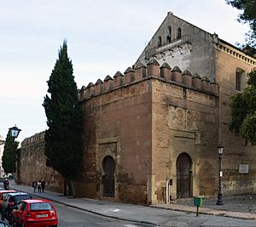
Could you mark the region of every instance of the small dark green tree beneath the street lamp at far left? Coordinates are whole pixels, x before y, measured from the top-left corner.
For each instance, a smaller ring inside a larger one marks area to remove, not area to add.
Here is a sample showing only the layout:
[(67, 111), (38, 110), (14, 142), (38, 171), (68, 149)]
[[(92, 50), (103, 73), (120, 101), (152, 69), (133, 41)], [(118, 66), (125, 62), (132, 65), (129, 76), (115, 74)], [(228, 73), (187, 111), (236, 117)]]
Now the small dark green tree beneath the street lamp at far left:
[(9, 131), (3, 147), (2, 165), (4, 173), (15, 173), (18, 145), (19, 142), (15, 142)]

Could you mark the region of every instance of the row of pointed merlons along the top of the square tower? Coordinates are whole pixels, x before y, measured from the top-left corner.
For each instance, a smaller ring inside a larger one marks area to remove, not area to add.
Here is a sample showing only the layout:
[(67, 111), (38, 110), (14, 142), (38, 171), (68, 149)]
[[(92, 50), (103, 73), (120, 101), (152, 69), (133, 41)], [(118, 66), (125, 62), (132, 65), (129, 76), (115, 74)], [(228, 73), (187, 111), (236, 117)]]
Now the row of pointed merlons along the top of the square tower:
[(207, 77), (201, 77), (197, 73), (192, 75), (188, 70), (181, 71), (177, 66), (172, 69), (166, 62), (160, 65), (157, 60), (152, 58), (147, 65), (140, 63), (134, 68), (128, 67), (124, 74), (117, 71), (113, 77), (108, 75), (103, 81), (98, 79), (96, 83), (90, 82), (87, 87), (83, 86), (79, 90), (79, 101), (150, 78), (218, 96), (218, 84), (216, 82), (210, 82)]

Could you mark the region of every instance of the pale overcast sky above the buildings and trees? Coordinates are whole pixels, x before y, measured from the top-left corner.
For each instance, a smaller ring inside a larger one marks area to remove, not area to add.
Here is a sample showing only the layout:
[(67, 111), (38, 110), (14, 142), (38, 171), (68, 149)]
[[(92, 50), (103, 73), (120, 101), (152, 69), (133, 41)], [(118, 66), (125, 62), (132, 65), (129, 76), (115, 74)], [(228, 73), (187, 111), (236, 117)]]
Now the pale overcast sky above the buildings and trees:
[(224, 0), (1, 0), (0, 135), (20, 142), (47, 128), (44, 95), (67, 39), (78, 88), (135, 63), (168, 11), (235, 44), (248, 27)]

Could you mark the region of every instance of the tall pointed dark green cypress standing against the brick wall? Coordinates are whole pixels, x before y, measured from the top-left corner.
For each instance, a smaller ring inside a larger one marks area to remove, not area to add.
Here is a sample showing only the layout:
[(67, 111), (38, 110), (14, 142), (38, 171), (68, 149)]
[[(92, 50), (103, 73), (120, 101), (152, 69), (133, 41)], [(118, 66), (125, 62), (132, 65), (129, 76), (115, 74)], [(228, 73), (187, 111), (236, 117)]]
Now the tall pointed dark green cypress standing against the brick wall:
[(54, 70), (48, 81), (44, 110), (49, 127), (45, 132), (46, 165), (64, 178), (64, 195), (75, 194), (73, 179), (82, 162), (82, 111), (72, 61), (67, 56), (67, 42), (59, 50)]

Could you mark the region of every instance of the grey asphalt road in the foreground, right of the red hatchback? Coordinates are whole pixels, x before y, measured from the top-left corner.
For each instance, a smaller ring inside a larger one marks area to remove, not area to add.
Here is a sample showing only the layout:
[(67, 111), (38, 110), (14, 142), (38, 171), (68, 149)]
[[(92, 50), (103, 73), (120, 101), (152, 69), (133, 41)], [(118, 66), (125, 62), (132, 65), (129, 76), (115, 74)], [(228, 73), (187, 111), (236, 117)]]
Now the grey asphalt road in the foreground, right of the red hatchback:
[[(33, 196), (36, 198), (35, 196)], [(59, 225), (58, 227), (152, 227), (150, 224), (137, 224), (126, 222), (115, 218), (106, 218), (94, 213), (88, 213), (73, 207), (67, 207), (54, 202), (57, 210)]]

